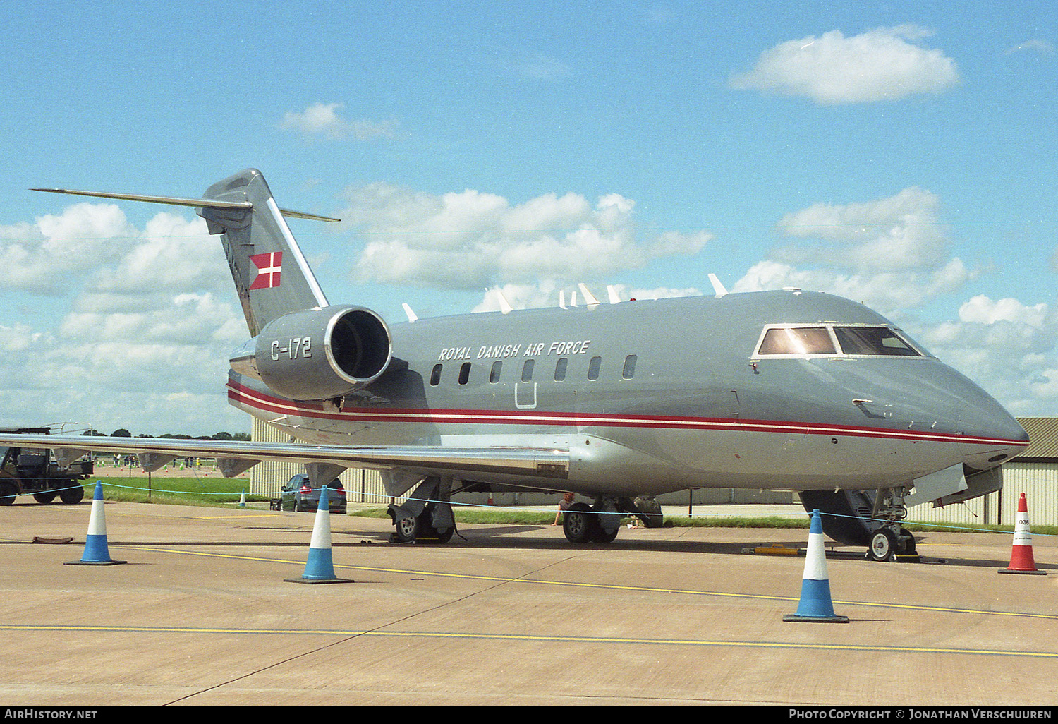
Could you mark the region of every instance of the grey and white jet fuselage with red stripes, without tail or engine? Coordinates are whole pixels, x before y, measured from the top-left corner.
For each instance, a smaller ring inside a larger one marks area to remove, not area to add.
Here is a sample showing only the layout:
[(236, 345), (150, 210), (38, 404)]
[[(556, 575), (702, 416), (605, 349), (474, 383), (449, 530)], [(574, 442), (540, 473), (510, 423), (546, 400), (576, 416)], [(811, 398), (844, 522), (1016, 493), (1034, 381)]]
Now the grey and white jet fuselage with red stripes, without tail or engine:
[[(765, 348), (787, 328), (831, 347)], [(234, 372), (229, 398), (317, 445), (568, 449), (555, 488), (587, 494), (879, 488), (1023, 449), (996, 400), (902, 334), (886, 342), (906, 349), (850, 351), (849, 330), (880, 329), (895, 327), (800, 291), (464, 314), (391, 325), (389, 368), (342, 400)]]

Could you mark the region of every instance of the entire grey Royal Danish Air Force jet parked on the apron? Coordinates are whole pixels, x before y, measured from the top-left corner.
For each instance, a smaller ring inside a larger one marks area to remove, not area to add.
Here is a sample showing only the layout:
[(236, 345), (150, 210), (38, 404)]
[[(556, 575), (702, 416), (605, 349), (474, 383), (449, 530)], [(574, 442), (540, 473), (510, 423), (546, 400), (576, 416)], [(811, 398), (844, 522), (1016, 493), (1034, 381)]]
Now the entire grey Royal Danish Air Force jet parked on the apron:
[[(332, 305), (261, 174), (204, 198), (71, 192), (193, 206), (219, 235), (249, 327), (229, 402), (290, 444), (92, 437), (147, 470), (218, 458), (229, 476), (304, 463), (313, 486), (382, 472), (397, 540), (446, 541), (462, 491), (573, 492), (574, 542), (613, 541), (622, 514), (689, 488), (795, 490), (840, 542), (913, 553), (907, 506), (1002, 487), (1028, 437), (978, 385), (864, 306), (799, 290), (384, 321)], [(618, 300), (612, 300), (618, 302)], [(7, 435), (0, 445), (26, 445)], [(35, 438), (34, 438), (35, 439)], [(293, 440), (298, 440), (294, 442)], [(88, 450), (83, 436), (38, 445)]]

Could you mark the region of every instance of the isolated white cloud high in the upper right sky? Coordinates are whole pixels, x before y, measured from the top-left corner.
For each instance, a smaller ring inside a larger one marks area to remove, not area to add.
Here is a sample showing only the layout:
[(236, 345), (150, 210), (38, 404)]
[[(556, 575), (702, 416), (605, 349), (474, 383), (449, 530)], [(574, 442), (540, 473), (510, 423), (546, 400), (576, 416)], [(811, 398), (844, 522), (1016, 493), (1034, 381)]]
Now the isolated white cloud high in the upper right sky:
[(960, 83), (955, 61), (919, 41), (917, 25), (876, 28), (845, 37), (838, 30), (782, 42), (764, 51), (730, 87), (806, 96), (821, 104), (896, 101), (938, 93)]

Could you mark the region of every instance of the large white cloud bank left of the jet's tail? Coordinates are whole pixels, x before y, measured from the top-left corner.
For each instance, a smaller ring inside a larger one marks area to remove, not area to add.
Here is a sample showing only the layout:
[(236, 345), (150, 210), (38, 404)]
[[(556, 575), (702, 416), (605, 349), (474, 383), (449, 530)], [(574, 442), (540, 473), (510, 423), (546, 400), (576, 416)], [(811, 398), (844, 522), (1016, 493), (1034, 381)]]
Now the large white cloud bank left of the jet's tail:
[[(225, 410), (223, 392), (227, 352), (247, 339), (245, 323), (201, 219), (161, 213), (141, 230), (113, 204), (79, 203), (0, 230), (0, 258), (19, 260), (0, 265), (8, 290), (71, 300), (54, 324), (26, 316), (0, 326), (10, 352), (0, 356), (4, 424), (75, 420), (156, 434), (248, 427)], [(174, 391), (198, 406), (167, 401)], [(217, 429), (172, 427), (201, 420), (207, 399)]]

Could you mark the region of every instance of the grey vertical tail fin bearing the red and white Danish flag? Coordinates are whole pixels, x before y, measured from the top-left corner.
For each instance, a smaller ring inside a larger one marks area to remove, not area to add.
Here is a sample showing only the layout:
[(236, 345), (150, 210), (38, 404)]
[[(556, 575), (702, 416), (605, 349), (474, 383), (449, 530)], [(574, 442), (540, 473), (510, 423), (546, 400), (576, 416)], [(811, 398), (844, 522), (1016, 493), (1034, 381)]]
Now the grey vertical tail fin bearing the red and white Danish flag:
[(252, 337), (287, 312), (328, 306), (259, 170), (218, 181), (205, 198), (251, 204), (200, 206), (198, 214), (211, 234), (220, 234)]

